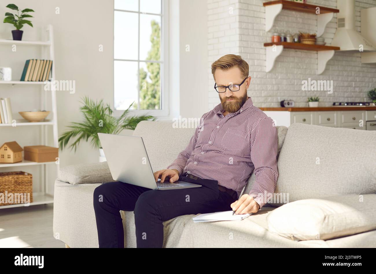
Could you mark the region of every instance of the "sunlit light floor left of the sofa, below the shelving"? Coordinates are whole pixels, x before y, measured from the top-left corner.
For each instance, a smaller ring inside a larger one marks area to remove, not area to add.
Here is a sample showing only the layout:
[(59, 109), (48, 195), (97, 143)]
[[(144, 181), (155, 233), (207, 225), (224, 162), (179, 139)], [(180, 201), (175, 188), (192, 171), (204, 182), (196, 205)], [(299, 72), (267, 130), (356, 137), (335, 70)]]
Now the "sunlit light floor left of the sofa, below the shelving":
[(0, 209), (0, 248), (60, 247), (53, 237), (53, 204)]

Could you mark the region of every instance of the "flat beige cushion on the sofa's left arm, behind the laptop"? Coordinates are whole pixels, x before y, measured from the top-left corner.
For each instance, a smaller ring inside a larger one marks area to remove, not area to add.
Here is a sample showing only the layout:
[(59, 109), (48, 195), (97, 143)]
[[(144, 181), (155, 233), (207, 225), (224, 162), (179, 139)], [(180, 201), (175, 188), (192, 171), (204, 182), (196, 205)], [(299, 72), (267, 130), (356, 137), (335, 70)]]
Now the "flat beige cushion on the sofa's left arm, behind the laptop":
[(71, 185), (116, 182), (107, 162), (68, 165), (59, 169), (58, 179)]

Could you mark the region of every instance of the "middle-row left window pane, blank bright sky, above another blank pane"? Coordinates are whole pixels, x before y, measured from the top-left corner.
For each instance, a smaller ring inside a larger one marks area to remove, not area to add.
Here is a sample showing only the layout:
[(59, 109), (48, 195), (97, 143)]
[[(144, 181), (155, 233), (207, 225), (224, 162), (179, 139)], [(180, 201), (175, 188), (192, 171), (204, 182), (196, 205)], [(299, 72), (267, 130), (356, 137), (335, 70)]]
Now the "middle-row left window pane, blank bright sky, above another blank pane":
[(114, 11), (114, 58), (138, 58), (138, 14)]

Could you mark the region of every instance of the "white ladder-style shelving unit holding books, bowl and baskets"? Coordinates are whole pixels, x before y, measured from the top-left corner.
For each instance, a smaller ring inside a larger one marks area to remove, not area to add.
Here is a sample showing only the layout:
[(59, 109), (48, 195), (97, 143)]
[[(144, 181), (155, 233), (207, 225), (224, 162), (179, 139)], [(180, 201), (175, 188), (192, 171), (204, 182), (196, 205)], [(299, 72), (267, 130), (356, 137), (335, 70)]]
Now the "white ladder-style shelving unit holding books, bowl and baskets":
[[(48, 25), (45, 28), (45, 31), (47, 33), (47, 41), (14, 41), (14, 40), (6, 40), (6, 39), (0, 39), (0, 45), (20, 45), (22, 47), (30, 46), (41, 46), (41, 47), (48, 47), (48, 57), (43, 59), (49, 59), (52, 60), (52, 74), (51, 74), (51, 81), (55, 80), (55, 53), (54, 53), (54, 40), (53, 40), (53, 27), (52, 25)], [(0, 47), (1, 49), (1, 47)], [(1, 52), (0, 52), (1, 54)], [(25, 57), (26, 60), (26, 57)], [(41, 94), (44, 94), (41, 96), (41, 104), (44, 109), (47, 109), (47, 97), (50, 94), (51, 95), (51, 113), (50, 118), (51, 120), (46, 120), (43, 122), (37, 122), (37, 123), (30, 123), (26, 120), (16, 120), (16, 127), (20, 126), (38, 126), (39, 130), (41, 132), (41, 145), (48, 145), (48, 134), (47, 134), (47, 126), (52, 126), (53, 131), (53, 146), (58, 147), (58, 119), (57, 119), (57, 107), (56, 107), (56, 90), (54, 85), (50, 85), (50, 91), (44, 91), (44, 82), (27, 82), (27, 81), (0, 81), (0, 85), (41, 85)], [(14, 109), (13, 109), (14, 111)], [(12, 127), (12, 124), (0, 124), (1, 127)], [(33, 129), (33, 128), (32, 128)], [(0, 129), (2, 130), (2, 129)], [(4, 129), (5, 130), (5, 129)], [(12, 128), (9, 128), (7, 130), (12, 130)], [(31, 129), (29, 129), (31, 130)], [(44, 162), (44, 163), (37, 163), (37, 162), (31, 162), (27, 160), (23, 160), (22, 162), (18, 163), (0, 163), (0, 172), (2, 172), (1, 168), (9, 168), (9, 167), (22, 167), (22, 166), (42, 166), (42, 186), (43, 191), (42, 192), (33, 192), (33, 202), (29, 204), (29, 206), (36, 205), (36, 204), (49, 204), (53, 203), (53, 196), (47, 194), (47, 165), (55, 164), (55, 162)], [(56, 170), (58, 170), (58, 165), (56, 165)], [(34, 178), (33, 178), (34, 180)], [(34, 181), (33, 181), (34, 183)], [(0, 206), (0, 209), (10, 208), (10, 207), (20, 207), (25, 206), (25, 204), (11, 204), (7, 206)]]

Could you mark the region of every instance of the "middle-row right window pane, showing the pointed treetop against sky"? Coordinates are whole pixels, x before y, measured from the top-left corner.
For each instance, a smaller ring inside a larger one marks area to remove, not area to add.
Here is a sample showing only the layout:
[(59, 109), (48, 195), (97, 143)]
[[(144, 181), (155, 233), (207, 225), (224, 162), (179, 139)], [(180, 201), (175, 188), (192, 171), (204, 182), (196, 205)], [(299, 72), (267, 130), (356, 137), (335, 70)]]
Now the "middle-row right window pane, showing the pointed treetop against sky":
[(161, 16), (140, 14), (140, 60), (160, 59)]

